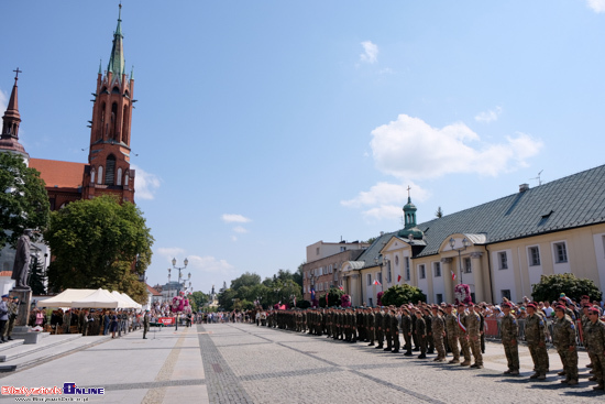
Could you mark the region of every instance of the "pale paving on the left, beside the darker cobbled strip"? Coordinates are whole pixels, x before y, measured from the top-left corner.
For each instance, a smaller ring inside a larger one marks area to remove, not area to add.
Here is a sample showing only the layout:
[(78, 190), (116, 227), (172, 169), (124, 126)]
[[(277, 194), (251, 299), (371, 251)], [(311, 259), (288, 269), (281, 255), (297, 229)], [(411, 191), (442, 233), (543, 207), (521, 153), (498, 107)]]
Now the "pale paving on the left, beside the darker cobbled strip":
[[(102, 403), (209, 403), (196, 327), (141, 330), (41, 365), (0, 375), (2, 386), (102, 387)], [(65, 395), (63, 395), (65, 396)], [(79, 395), (82, 397), (82, 395)], [(1, 395), (0, 402), (14, 402)]]

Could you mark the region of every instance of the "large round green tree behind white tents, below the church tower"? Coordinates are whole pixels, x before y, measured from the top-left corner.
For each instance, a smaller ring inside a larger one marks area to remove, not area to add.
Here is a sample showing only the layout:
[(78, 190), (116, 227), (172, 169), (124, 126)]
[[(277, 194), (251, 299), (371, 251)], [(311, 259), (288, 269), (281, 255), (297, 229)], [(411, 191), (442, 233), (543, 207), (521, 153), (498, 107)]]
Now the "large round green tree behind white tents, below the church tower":
[(146, 301), (140, 277), (154, 240), (133, 204), (107, 195), (74, 201), (52, 212), (44, 239), (55, 258), (48, 266), (53, 290), (102, 287)]

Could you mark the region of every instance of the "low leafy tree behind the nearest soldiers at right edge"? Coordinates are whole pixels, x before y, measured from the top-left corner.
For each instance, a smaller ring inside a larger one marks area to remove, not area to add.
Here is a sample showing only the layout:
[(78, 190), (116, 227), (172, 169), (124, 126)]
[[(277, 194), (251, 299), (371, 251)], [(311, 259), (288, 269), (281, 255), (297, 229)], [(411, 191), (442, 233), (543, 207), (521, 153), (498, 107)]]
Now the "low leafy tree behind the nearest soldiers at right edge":
[(591, 302), (601, 302), (603, 297), (603, 293), (593, 281), (578, 279), (572, 273), (542, 275), (540, 283), (531, 285), (531, 297), (536, 302), (558, 301), (561, 293), (578, 302), (583, 295), (590, 296)]

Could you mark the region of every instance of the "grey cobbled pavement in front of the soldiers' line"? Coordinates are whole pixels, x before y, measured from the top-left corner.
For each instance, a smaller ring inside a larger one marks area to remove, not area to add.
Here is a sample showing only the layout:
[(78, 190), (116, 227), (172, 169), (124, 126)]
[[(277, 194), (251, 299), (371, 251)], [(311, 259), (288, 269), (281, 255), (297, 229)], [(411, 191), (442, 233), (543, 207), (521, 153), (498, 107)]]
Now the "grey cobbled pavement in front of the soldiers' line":
[[(565, 403), (601, 402), (587, 370), (578, 386), (559, 382), (551, 353), (549, 376), (530, 381), (531, 359), (521, 348), (521, 375), (504, 376), (502, 346), (487, 342), (485, 369), (419, 360), (366, 343), (333, 341), (249, 324), (198, 329), (210, 403)], [(206, 334), (207, 332), (207, 334)], [(580, 365), (587, 363), (584, 353)]]

